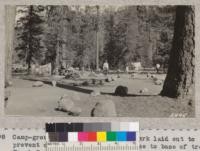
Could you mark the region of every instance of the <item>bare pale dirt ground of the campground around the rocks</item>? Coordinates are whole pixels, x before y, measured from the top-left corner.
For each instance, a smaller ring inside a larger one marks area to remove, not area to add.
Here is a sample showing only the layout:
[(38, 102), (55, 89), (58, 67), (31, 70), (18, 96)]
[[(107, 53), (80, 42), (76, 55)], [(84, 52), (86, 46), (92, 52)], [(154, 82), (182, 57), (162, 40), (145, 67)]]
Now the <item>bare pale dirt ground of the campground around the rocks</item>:
[[(158, 79), (164, 79), (165, 75), (156, 75)], [(162, 85), (155, 85), (153, 80), (146, 75), (136, 75), (133, 79), (130, 75), (123, 74), (116, 81), (105, 83), (104, 86), (82, 87), (90, 90), (99, 90), (103, 94), (91, 96), (74, 90), (53, 87), (45, 84), (43, 87), (32, 87), (33, 81), (13, 79), (11, 96), (5, 108), (6, 115), (23, 116), (70, 116), (65, 112), (56, 111), (57, 101), (63, 94), (67, 94), (77, 107), (82, 109), (80, 116), (90, 116), (96, 102), (112, 100), (115, 103), (119, 117), (170, 117), (173, 113), (183, 113), (187, 117), (194, 116), (191, 106), (183, 106), (178, 100), (159, 96)], [(129, 96), (113, 96), (118, 85), (128, 87)], [(141, 94), (141, 89), (147, 88), (148, 92)]]

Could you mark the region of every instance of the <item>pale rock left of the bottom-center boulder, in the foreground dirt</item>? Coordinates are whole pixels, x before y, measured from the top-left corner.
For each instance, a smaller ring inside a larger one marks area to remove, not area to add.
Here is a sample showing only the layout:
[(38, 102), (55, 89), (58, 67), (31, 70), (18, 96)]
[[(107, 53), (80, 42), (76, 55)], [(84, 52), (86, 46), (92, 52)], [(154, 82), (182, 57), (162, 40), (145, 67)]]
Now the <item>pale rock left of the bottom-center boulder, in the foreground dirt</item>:
[(74, 102), (64, 95), (58, 100), (58, 110), (69, 112), (74, 107)]

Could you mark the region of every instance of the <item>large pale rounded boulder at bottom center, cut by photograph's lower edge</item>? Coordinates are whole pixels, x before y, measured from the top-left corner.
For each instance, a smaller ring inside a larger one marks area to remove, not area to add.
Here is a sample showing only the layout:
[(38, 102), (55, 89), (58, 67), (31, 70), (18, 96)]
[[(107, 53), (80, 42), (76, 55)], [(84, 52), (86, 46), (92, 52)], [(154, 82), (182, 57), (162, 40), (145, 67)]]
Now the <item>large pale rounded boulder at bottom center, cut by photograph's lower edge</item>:
[(116, 117), (116, 108), (112, 100), (97, 102), (91, 111), (93, 117)]

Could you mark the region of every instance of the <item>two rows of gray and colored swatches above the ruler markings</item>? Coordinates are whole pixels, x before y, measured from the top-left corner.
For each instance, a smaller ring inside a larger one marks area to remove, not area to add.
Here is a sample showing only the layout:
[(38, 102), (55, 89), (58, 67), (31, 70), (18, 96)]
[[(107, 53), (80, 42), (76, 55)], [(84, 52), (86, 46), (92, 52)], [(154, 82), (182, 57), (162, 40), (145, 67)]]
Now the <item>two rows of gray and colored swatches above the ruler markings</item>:
[(46, 124), (50, 142), (136, 141), (138, 132), (139, 124), (136, 122)]

